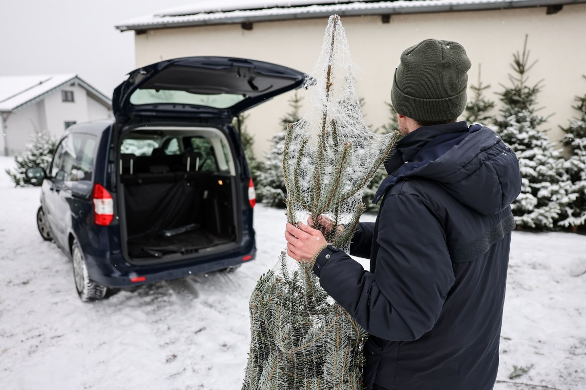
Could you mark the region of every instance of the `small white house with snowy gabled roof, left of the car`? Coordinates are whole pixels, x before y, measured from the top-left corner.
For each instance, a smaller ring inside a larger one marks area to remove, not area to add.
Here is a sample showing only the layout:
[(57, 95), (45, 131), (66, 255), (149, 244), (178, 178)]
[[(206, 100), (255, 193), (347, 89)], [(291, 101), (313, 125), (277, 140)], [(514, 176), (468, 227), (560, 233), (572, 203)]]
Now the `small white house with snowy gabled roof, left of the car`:
[(78, 122), (112, 116), (112, 103), (75, 74), (0, 75), (0, 153), (25, 149), (29, 134), (49, 130), (59, 137)]

